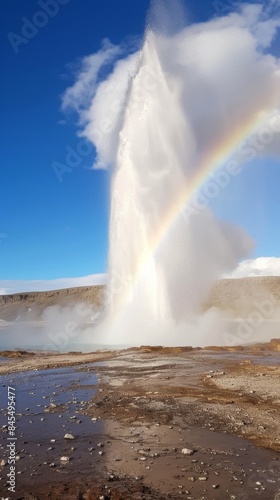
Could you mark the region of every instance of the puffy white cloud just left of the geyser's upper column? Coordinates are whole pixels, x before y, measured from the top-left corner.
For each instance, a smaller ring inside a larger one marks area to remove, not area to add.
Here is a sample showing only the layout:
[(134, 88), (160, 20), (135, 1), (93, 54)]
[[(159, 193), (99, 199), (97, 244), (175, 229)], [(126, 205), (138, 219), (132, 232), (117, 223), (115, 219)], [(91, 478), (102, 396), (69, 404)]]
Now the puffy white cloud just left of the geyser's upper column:
[[(82, 60), (76, 82), (62, 97), (62, 110), (74, 110), (79, 115), (79, 136), (96, 148), (94, 168), (107, 168), (115, 158), (121, 110), (129, 79), (137, 68), (138, 45), (136, 38), (121, 45), (103, 40), (98, 52)], [(105, 80), (102, 73), (107, 75)]]

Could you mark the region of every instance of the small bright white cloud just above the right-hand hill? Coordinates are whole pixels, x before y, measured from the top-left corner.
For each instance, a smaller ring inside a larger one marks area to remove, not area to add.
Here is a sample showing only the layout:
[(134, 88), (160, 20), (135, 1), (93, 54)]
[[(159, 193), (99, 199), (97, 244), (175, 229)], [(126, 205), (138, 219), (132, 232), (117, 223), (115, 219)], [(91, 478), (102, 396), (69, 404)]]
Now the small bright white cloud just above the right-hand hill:
[(248, 278), (252, 276), (280, 276), (280, 257), (258, 257), (240, 262), (227, 278)]

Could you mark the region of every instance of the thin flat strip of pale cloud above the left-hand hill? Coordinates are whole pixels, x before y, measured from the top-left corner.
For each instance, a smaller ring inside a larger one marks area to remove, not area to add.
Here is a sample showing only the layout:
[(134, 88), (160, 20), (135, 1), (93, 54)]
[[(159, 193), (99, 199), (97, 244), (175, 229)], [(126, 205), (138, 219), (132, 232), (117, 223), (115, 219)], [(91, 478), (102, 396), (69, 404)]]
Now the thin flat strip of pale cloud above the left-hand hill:
[(59, 278), (55, 280), (0, 280), (0, 295), (103, 285), (106, 282), (107, 274), (90, 274), (81, 278)]

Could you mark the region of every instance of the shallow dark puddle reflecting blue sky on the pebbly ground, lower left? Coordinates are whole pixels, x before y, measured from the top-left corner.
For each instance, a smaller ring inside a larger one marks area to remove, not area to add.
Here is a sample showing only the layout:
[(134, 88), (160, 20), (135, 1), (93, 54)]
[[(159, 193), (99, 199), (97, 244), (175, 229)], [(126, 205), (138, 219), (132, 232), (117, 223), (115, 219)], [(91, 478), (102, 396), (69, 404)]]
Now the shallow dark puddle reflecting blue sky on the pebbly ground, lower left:
[[(0, 377), (0, 427), (8, 423), (8, 386), (16, 389), (18, 483), (29, 484), (30, 475), (42, 476), (46, 481), (64, 468), (75, 473), (77, 465), (92, 470), (98, 460), (96, 442), (104, 431), (103, 422), (92, 420), (83, 411), (94, 397), (97, 383), (94, 373), (74, 367)], [(8, 434), (3, 427), (2, 431), (0, 456), (7, 460)], [(74, 439), (65, 439), (66, 434), (72, 434)], [(62, 456), (69, 458), (66, 464), (61, 462)]]

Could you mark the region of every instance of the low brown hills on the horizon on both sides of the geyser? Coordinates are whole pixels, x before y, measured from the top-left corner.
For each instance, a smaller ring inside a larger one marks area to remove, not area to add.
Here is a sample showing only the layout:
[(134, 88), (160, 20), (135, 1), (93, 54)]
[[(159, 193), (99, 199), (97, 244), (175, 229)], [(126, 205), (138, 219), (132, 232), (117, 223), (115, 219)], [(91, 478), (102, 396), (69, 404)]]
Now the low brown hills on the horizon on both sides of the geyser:
[[(29, 320), (38, 319), (46, 307), (71, 306), (87, 303), (99, 306), (104, 300), (103, 285), (66, 288), (50, 292), (16, 293), (0, 296), (0, 319), (13, 321), (19, 315)], [(204, 310), (218, 307), (233, 315), (248, 314), (256, 302), (270, 301), (280, 306), (280, 276), (225, 279), (217, 281), (203, 306)], [(1, 326), (1, 323), (0, 323)]]

